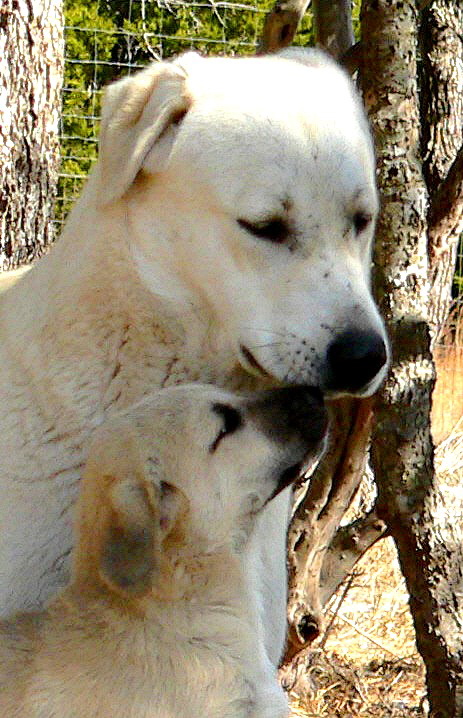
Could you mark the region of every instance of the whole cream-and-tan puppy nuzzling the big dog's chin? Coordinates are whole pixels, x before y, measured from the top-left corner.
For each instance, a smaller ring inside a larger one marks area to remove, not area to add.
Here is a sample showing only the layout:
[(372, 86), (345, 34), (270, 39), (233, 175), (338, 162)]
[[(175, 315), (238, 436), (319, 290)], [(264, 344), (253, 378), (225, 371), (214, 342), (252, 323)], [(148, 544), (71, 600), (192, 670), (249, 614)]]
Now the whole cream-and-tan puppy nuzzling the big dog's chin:
[(313, 463), (306, 389), (165, 389), (96, 432), (71, 584), (0, 624), (5, 718), (282, 718), (245, 549)]

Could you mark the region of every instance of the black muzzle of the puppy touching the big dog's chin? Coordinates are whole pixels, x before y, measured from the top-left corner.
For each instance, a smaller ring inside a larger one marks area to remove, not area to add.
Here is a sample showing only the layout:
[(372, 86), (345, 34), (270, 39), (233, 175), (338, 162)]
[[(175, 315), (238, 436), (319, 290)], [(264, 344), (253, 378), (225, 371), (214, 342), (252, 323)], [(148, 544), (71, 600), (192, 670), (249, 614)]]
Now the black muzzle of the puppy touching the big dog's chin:
[(252, 413), (265, 432), (286, 442), (295, 436), (318, 443), (328, 428), (328, 415), (321, 391), (295, 386), (262, 392)]

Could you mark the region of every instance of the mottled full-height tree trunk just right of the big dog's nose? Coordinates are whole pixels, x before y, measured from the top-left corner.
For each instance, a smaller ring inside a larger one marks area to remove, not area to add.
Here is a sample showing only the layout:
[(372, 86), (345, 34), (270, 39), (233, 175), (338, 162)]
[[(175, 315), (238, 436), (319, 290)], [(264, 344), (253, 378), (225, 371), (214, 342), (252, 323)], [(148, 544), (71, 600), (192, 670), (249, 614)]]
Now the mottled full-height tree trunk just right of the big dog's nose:
[(418, 10), (400, 0), (364, 0), (362, 84), (376, 138), (382, 212), (376, 289), (393, 347), (377, 404), (372, 463), (378, 514), (399, 552), (434, 718), (463, 715), (463, 555), (440, 521), (430, 404), (434, 370), (427, 324), (427, 187), (420, 164)]

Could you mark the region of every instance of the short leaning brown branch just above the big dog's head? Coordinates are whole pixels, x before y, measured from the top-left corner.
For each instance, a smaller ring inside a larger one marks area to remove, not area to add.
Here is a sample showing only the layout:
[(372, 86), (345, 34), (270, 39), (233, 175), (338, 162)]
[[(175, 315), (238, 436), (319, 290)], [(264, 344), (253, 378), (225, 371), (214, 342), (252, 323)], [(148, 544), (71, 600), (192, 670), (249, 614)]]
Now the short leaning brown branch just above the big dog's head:
[(310, 0), (277, 0), (265, 17), (258, 54), (277, 52), (290, 45)]

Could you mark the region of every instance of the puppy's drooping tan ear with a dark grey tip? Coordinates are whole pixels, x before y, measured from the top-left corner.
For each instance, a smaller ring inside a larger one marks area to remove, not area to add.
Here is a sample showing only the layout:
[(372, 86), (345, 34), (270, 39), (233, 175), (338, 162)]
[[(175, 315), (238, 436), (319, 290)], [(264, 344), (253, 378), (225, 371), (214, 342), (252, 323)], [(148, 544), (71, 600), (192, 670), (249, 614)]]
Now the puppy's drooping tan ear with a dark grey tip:
[(124, 596), (142, 596), (156, 583), (162, 544), (185, 509), (176, 487), (136, 477), (114, 480), (109, 490), (100, 576)]

